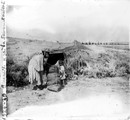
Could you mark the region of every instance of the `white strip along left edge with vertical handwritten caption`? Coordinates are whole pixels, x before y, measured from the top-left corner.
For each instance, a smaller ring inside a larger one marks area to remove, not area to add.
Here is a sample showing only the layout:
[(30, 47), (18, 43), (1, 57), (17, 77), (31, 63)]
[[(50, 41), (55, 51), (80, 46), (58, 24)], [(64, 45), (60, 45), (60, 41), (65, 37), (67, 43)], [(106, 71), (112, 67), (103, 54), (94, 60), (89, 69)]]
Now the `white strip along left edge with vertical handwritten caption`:
[(2, 120), (7, 117), (7, 94), (6, 94), (6, 3), (1, 0), (1, 54), (2, 54), (2, 68), (1, 68), (1, 88), (2, 88)]

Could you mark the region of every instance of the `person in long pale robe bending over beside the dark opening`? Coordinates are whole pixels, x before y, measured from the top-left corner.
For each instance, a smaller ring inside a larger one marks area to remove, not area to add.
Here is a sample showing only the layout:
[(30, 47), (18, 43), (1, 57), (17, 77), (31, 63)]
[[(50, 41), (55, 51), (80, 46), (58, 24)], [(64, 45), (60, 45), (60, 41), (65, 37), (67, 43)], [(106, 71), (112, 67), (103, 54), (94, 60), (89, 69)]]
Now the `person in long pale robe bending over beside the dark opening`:
[(29, 61), (28, 72), (29, 72), (29, 82), (32, 84), (36, 81), (36, 86), (33, 87), (36, 89), (43, 89), (43, 71), (44, 65), (47, 63), (49, 57), (49, 52), (42, 51), (38, 55), (34, 55), (33, 58)]

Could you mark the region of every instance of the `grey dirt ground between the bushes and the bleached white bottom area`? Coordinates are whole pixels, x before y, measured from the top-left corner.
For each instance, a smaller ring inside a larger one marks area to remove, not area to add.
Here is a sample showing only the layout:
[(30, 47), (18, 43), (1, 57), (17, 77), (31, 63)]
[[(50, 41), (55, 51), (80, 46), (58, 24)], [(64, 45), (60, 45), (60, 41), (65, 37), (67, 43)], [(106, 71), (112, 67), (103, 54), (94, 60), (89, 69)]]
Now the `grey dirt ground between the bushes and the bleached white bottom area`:
[(121, 104), (122, 113), (128, 112), (130, 108), (129, 79), (120, 77), (90, 79), (80, 76), (77, 80), (69, 81), (60, 92), (51, 92), (47, 89), (35, 91), (32, 90), (32, 86), (27, 86), (24, 89), (16, 90), (7, 95), (9, 98), (9, 115), (25, 106), (45, 106), (56, 103), (65, 103), (81, 98), (84, 99), (90, 96), (99, 97), (102, 95), (108, 96), (108, 99), (112, 97), (115, 100), (120, 101), (119, 104), (113, 103), (113, 105), (116, 104), (116, 107), (118, 108)]

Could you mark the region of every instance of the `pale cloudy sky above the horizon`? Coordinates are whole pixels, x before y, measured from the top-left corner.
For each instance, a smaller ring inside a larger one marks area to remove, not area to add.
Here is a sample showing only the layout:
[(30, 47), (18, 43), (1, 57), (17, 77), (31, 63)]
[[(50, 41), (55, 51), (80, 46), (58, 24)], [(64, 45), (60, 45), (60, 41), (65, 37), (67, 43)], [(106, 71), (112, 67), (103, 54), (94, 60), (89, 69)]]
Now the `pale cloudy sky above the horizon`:
[(129, 0), (9, 0), (7, 36), (72, 42), (128, 42)]

